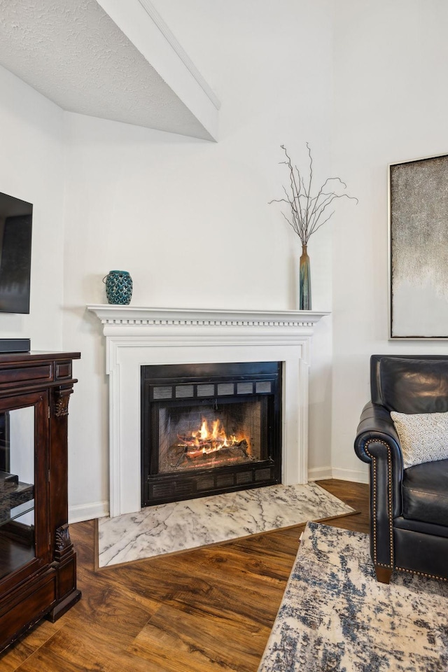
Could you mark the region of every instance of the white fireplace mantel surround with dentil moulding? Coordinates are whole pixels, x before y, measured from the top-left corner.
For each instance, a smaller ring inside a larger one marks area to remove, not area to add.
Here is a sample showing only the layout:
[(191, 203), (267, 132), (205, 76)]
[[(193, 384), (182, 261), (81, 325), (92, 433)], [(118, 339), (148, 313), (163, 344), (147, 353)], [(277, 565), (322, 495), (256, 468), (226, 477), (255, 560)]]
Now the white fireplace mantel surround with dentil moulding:
[(141, 366), (283, 362), (282, 482), (307, 482), (308, 369), (327, 311), (87, 306), (102, 321), (109, 374), (110, 515), (141, 509)]

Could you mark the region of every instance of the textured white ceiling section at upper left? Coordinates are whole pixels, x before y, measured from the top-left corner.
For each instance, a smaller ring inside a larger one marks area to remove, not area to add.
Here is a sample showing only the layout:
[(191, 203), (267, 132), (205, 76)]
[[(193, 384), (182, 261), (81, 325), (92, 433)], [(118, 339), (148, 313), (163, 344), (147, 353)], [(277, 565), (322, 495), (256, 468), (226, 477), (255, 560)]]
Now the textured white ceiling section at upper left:
[(95, 0), (0, 0), (0, 64), (64, 110), (212, 139)]

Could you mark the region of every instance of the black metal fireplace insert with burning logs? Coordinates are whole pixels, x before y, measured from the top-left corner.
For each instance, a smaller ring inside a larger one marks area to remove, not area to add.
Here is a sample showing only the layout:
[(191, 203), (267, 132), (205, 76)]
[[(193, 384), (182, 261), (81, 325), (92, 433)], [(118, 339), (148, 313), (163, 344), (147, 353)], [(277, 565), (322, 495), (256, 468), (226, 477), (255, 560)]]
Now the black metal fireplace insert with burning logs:
[(141, 367), (141, 505), (281, 482), (281, 363)]

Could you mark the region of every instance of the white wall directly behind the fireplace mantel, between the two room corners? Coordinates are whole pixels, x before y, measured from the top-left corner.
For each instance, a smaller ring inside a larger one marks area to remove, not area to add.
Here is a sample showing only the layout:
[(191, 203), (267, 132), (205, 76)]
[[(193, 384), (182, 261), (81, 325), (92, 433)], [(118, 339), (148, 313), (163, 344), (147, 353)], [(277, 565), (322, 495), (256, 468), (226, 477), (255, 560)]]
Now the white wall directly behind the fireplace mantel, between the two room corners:
[[(306, 167), (309, 141), (316, 180), (330, 169), (330, 3), (186, 4), (157, 8), (223, 102), (218, 144), (66, 115), (64, 348), (83, 353), (69, 423), (72, 520), (99, 514), (108, 498), (104, 346), (85, 312), (106, 302), (103, 276), (129, 270), (135, 305), (295, 309), (300, 247), (267, 205), (288, 183), (280, 145)], [(328, 309), (330, 227), (309, 253), (313, 307)], [(330, 318), (316, 332), (309, 465), (325, 475)]]

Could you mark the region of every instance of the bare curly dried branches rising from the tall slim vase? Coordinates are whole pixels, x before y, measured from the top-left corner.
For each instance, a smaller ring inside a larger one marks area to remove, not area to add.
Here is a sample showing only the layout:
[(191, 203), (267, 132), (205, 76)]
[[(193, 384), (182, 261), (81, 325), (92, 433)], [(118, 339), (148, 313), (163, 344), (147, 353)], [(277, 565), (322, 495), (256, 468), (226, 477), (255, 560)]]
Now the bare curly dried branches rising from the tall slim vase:
[(330, 217), (334, 214), (334, 210), (329, 212), (333, 201), (337, 198), (345, 197), (355, 200), (356, 203), (358, 203), (358, 199), (354, 196), (349, 196), (348, 194), (338, 194), (335, 191), (330, 190), (330, 183), (332, 182), (339, 183), (339, 185), (342, 185), (344, 189), (346, 189), (346, 183), (339, 177), (328, 177), (318, 190), (317, 195), (311, 196), (313, 160), (309, 144), (307, 143), (309, 155), (309, 181), (307, 184), (305, 184), (304, 178), (302, 174), (300, 174), (297, 166), (293, 166), (291, 163), (286, 147), (281, 145), (281, 148), (286, 155), (286, 161), (281, 161), (280, 163), (288, 166), (290, 188), (288, 190), (283, 186), (285, 198), (273, 199), (272, 201), (269, 201), (269, 204), (288, 203), (291, 213), (290, 217), (287, 217), (284, 212), (281, 214), (300, 238), (302, 245), (307, 245), (309, 238), (316, 233), (321, 226), (327, 223)]

